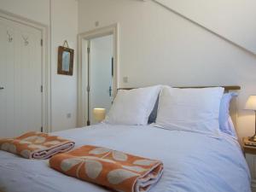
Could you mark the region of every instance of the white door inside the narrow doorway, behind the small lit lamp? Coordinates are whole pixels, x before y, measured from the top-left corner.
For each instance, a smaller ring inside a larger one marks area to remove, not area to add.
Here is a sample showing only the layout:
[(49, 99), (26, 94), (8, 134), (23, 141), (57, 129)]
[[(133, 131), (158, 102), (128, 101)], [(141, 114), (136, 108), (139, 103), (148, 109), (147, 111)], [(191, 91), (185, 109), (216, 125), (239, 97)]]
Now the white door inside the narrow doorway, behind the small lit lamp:
[(96, 124), (93, 108), (106, 108), (112, 105), (113, 80), (113, 35), (90, 40), (90, 124)]

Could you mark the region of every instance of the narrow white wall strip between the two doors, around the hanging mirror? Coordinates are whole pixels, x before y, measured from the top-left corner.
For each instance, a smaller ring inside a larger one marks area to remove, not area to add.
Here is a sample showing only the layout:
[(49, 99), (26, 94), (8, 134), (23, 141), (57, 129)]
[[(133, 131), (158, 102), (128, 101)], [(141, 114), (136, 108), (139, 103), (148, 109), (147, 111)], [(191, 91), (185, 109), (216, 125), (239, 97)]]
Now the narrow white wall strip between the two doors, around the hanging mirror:
[[(76, 127), (77, 123), (77, 34), (78, 2), (51, 0), (51, 85), (52, 127), (54, 131)], [(58, 46), (67, 39), (74, 49), (73, 76), (57, 75)], [(71, 118), (67, 118), (71, 113)]]

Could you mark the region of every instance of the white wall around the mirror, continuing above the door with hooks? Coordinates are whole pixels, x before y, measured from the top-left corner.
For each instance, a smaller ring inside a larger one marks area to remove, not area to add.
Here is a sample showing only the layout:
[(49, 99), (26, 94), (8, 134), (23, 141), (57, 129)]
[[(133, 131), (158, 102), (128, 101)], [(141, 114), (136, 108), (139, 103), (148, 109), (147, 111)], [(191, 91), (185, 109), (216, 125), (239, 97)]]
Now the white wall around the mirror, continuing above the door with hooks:
[[(51, 9), (50, 9), (51, 8)], [(51, 35), (51, 103), (53, 131), (76, 126), (77, 83), (76, 55), (72, 77), (57, 75), (57, 47), (67, 39), (75, 49), (78, 30), (78, 2), (76, 0), (0, 0), (0, 9), (40, 22), (50, 27)], [(51, 16), (50, 16), (51, 15)], [(67, 119), (67, 113), (71, 118)]]

